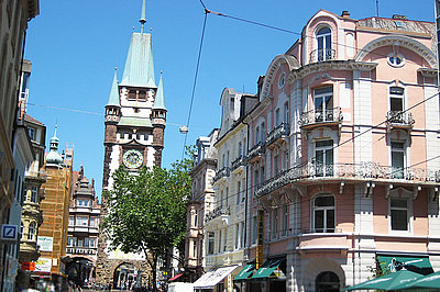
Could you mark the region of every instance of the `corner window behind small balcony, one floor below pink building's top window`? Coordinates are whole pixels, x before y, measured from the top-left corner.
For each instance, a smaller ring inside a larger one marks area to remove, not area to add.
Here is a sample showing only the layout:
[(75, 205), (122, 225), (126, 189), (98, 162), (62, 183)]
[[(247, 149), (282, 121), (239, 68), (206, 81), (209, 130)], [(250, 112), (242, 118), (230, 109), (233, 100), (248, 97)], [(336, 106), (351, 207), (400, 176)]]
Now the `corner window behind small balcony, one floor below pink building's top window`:
[(333, 87), (321, 87), (314, 90), (315, 122), (333, 121)]

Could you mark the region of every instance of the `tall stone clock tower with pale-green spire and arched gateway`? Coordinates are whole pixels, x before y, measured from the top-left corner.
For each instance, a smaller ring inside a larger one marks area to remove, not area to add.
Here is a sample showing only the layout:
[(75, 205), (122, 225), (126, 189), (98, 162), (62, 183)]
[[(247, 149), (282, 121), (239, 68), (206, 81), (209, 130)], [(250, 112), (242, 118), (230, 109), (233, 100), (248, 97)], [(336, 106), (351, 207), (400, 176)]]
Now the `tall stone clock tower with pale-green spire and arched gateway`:
[[(123, 166), (133, 176), (143, 167), (161, 166), (166, 124), (164, 87), (154, 78), (152, 35), (144, 33), (145, 0), (142, 3), (141, 32), (133, 32), (122, 79), (114, 71), (106, 104), (105, 158), (102, 191), (112, 188), (114, 170)], [(106, 216), (102, 199), (101, 216)], [(101, 232), (98, 243), (97, 283), (120, 288), (123, 270), (147, 279), (145, 259), (141, 255), (107, 249), (108, 239)], [(123, 266), (123, 268), (122, 268)]]

